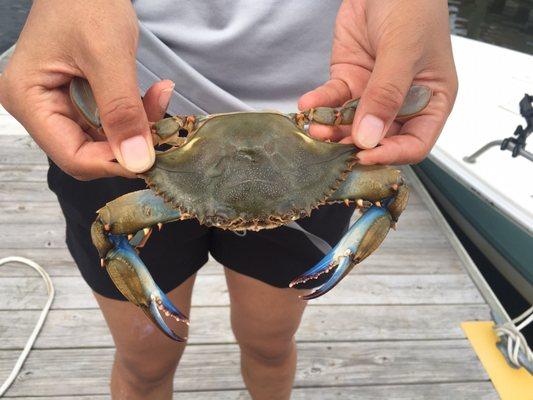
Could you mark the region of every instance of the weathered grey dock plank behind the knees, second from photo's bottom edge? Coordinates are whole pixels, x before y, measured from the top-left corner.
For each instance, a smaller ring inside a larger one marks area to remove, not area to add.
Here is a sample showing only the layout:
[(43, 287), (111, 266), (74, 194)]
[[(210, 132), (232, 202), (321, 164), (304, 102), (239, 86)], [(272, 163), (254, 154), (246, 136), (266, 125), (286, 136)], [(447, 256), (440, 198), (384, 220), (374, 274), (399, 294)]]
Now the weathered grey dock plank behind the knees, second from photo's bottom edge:
[[(485, 381), (467, 340), (301, 343), (296, 387)], [(0, 351), (0, 380), (18, 352)], [(35, 350), (9, 396), (106, 394), (113, 349)], [(68, 368), (65, 368), (68, 366)], [(61, 382), (61, 384), (58, 384)], [(243, 389), (238, 346), (188, 346), (176, 374), (180, 390)]]

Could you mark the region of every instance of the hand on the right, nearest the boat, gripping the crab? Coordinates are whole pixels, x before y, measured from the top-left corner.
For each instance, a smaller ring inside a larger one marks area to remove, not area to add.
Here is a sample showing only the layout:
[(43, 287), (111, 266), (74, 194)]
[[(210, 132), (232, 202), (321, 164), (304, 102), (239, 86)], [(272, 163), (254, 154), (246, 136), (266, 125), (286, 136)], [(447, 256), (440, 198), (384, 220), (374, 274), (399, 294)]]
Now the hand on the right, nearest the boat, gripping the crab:
[[(355, 143), (363, 149), (357, 154), (361, 164), (421, 161), (457, 93), (446, 0), (345, 0), (337, 15), (330, 75), (300, 98), (300, 109), (337, 107), (359, 97), (361, 102), (352, 126), (314, 124), (311, 135)], [(413, 83), (430, 87), (433, 96), (421, 113), (395, 121)]]

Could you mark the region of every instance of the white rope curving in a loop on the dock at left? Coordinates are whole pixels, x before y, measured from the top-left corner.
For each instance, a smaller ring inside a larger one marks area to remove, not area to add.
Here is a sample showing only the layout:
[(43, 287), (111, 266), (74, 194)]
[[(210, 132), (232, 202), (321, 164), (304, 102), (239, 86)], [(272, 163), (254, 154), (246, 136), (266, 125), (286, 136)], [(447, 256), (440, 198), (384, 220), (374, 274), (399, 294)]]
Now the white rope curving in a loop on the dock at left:
[(46, 283), (46, 289), (48, 291), (48, 300), (46, 301), (46, 304), (43, 307), (43, 311), (41, 312), (41, 315), (39, 316), (39, 320), (37, 321), (37, 324), (35, 325), (35, 328), (33, 329), (32, 334), (30, 335), (28, 341), (26, 342), (26, 345), (24, 346), (24, 349), (22, 350), (22, 353), (20, 353), (20, 356), (13, 367), (13, 370), (11, 371), (11, 374), (6, 379), (6, 381), (0, 386), (0, 397), (4, 395), (4, 393), (9, 389), (11, 384), (14, 382), (14, 380), (17, 378), (22, 365), (24, 364), (24, 361), (26, 361), (26, 358), (28, 357), (28, 354), (30, 353), (31, 348), (33, 347), (33, 343), (35, 343), (35, 340), (37, 339), (37, 336), (39, 335), (39, 332), (41, 331), (41, 328), (43, 327), (44, 321), (46, 319), (46, 316), (48, 315), (48, 311), (50, 310), (50, 306), (52, 305), (52, 301), (54, 300), (54, 285), (52, 284), (52, 280), (50, 279), (50, 276), (48, 273), (36, 262), (33, 262), (32, 260), (28, 260), (27, 258), (23, 257), (6, 257), (0, 259), (0, 266), (7, 264), (7, 263), (19, 263), (24, 264), (29, 267), (32, 267), (34, 270), (36, 270), (44, 279)]

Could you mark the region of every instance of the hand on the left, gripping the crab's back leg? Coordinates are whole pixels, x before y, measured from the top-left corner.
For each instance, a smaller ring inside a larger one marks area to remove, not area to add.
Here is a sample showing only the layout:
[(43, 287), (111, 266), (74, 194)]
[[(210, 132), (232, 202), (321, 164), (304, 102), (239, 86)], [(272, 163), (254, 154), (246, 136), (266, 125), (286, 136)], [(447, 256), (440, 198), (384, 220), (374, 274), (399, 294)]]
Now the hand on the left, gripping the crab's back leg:
[[(35, 0), (0, 76), (0, 103), (77, 179), (133, 178), (154, 162), (148, 117), (164, 114), (173, 84), (154, 85), (143, 107), (137, 41), (130, 0)], [(73, 76), (86, 78), (93, 89), (104, 140), (82, 128), (68, 95)]]

